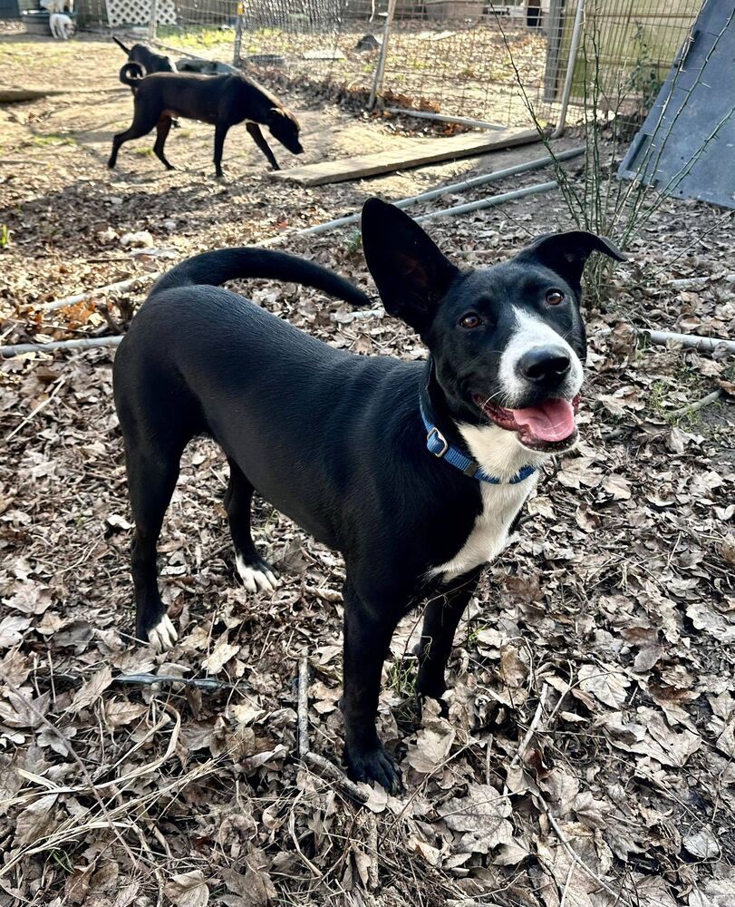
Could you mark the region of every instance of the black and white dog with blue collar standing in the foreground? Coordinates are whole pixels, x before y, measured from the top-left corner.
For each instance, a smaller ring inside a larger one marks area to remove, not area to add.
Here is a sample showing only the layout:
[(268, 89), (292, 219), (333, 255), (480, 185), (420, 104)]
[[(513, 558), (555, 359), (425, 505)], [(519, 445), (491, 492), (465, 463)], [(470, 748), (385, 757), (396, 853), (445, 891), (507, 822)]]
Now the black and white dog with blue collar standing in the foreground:
[(276, 582), (250, 534), (255, 490), (343, 552), (345, 755), (353, 778), (390, 789), (398, 778), (375, 717), (393, 629), (432, 597), (418, 688), (440, 697), (481, 566), (503, 550), (537, 468), (575, 442), (585, 260), (595, 249), (622, 256), (574, 231), (493, 268), (460, 271), (413, 220), (375, 199), (363, 209), (363, 247), (386, 309), (421, 335), (427, 362), (334, 349), (214, 288), (267, 276), (364, 301), (298, 258), (228, 249), (160, 278), (115, 357), (114, 391), (139, 638), (164, 648), (176, 639), (156, 541), (179, 457), (208, 434), (227, 453), (225, 507), (247, 589)]

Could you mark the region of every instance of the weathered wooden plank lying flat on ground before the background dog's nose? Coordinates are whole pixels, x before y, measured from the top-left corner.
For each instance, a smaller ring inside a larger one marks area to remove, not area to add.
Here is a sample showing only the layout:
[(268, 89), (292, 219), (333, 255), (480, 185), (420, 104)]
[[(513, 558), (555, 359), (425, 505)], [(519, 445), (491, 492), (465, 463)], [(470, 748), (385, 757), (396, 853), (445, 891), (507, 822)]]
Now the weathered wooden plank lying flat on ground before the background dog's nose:
[(417, 139), (409, 146), (391, 151), (306, 164), (304, 167), (276, 171), (271, 173), (271, 176), (276, 180), (298, 182), (302, 186), (323, 186), (330, 182), (362, 180), (364, 177), (377, 176), (379, 173), (392, 173), (439, 161), (468, 158), (476, 154), (486, 154), (488, 151), (498, 151), (500, 148), (526, 145), (532, 141), (538, 141), (538, 132), (535, 129), (507, 129), (482, 135), (472, 132), (452, 139)]

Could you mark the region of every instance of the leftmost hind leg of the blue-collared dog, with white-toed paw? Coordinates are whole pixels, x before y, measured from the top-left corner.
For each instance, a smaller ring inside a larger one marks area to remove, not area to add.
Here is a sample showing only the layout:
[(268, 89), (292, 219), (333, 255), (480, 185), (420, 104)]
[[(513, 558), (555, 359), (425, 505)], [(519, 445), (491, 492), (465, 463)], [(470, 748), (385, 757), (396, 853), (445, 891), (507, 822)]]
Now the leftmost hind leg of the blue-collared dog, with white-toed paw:
[(131, 571), (135, 587), (135, 635), (156, 649), (170, 649), (177, 633), (160, 598), (156, 544), (179, 478), (183, 444), (156, 444), (126, 436), (125, 463), (135, 522)]

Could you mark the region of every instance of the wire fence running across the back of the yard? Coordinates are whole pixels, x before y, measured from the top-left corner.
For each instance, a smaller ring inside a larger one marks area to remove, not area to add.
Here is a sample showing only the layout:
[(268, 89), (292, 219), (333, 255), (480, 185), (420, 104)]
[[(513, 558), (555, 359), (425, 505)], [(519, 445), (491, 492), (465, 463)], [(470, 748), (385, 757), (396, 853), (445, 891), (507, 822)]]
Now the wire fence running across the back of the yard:
[[(37, 0), (21, 0), (22, 3)], [(583, 6), (582, 6), (583, 5)], [(605, 112), (644, 111), (701, 0), (76, 0), (79, 23), (423, 116), (554, 124), (569, 89)], [(578, 46), (575, 39), (579, 38)], [(573, 63), (570, 65), (569, 61)]]

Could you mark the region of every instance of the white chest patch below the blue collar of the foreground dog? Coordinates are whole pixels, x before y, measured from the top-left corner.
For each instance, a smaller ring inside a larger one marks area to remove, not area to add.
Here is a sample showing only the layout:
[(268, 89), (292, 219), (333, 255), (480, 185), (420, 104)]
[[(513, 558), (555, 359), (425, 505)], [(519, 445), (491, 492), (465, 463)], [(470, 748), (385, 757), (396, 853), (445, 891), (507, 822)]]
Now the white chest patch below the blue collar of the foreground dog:
[(494, 561), (508, 544), (508, 530), (529, 493), (536, 487), (537, 477), (530, 476), (515, 485), (481, 483), (482, 512), (455, 556), (434, 567), (431, 577), (450, 579)]

